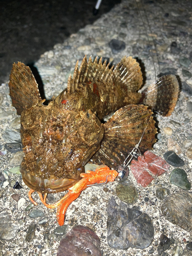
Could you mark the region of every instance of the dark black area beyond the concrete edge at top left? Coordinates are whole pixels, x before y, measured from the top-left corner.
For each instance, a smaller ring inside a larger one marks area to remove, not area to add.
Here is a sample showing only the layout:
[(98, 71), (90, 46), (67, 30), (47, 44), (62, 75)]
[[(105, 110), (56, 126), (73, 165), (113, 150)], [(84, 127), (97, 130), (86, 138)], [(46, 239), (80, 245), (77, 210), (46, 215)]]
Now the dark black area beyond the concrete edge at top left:
[(92, 24), (121, 0), (0, 0), (0, 86), (9, 79), (12, 63), (26, 65), (62, 43), (70, 34)]

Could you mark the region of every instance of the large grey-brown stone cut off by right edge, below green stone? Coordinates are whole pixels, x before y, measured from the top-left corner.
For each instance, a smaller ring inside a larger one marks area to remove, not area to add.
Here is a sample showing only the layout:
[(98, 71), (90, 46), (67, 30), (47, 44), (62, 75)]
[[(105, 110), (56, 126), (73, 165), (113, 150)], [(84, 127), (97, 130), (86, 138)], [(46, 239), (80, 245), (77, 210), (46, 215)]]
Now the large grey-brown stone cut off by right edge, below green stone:
[(178, 193), (167, 197), (161, 210), (166, 220), (191, 232), (191, 207), (192, 195), (190, 193)]

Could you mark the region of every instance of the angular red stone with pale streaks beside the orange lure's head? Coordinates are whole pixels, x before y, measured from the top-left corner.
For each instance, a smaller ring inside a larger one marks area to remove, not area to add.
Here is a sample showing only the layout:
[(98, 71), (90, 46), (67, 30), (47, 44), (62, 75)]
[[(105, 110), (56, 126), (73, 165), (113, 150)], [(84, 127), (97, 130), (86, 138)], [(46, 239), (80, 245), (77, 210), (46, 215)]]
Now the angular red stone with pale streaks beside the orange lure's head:
[(137, 183), (143, 187), (150, 184), (154, 180), (154, 177), (165, 173), (168, 168), (169, 165), (166, 161), (150, 151), (146, 151), (144, 156), (139, 156), (138, 161), (132, 160), (131, 164), (131, 170)]

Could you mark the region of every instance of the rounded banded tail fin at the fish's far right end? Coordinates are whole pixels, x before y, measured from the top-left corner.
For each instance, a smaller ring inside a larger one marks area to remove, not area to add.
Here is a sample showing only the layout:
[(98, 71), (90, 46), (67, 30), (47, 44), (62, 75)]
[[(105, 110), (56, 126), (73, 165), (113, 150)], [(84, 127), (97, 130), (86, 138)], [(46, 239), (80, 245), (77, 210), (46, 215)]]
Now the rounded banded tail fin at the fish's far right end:
[(170, 116), (177, 103), (178, 94), (179, 84), (176, 76), (165, 75), (146, 89), (143, 103), (162, 116)]

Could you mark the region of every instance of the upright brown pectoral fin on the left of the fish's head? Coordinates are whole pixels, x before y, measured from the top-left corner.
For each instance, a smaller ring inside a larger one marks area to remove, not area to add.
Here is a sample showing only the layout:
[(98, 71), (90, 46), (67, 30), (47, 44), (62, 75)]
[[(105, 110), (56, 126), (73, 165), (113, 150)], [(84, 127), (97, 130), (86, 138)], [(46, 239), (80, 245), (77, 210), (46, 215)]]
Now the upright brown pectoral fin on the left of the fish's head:
[(38, 84), (29, 67), (24, 63), (13, 64), (9, 81), (10, 96), (17, 114), (41, 100)]

